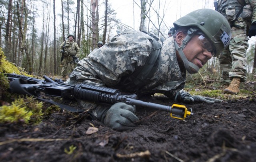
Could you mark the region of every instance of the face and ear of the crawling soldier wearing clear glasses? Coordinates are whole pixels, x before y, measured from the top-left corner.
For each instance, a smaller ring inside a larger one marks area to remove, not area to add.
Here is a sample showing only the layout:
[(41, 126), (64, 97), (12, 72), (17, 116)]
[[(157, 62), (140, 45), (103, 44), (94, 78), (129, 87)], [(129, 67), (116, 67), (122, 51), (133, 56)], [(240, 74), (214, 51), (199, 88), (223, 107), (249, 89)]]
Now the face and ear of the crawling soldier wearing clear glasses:
[[(182, 44), (182, 40), (184, 40), (185, 37), (186, 34), (184, 33), (181, 35), (179, 35), (179, 33), (177, 34), (176, 41), (178, 38), (177, 43), (179, 46)], [(212, 51), (214, 51), (214, 47), (203, 35), (194, 35), (183, 49), (184, 55), (188, 61), (192, 62), (199, 68), (202, 68), (203, 65), (212, 58)]]

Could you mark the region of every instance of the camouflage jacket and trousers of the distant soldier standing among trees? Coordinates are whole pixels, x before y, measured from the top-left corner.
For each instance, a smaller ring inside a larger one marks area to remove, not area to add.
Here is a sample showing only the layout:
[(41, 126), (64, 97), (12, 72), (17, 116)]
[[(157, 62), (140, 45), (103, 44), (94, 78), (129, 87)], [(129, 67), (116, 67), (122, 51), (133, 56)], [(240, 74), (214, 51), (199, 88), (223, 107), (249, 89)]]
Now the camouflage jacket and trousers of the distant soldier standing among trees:
[[(64, 47), (65, 53), (62, 54), (63, 60), (62, 60), (62, 70), (61, 70), (61, 75), (66, 76), (67, 75), (67, 68), (68, 64), (70, 64), (71, 70), (75, 68), (75, 63), (73, 57), (76, 56), (78, 57), (80, 48), (78, 47), (78, 44), (74, 41), (69, 42), (68, 40), (65, 41), (66, 45)], [(63, 46), (65, 42), (61, 43), (59, 47), (59, 51), (63, 50)]]

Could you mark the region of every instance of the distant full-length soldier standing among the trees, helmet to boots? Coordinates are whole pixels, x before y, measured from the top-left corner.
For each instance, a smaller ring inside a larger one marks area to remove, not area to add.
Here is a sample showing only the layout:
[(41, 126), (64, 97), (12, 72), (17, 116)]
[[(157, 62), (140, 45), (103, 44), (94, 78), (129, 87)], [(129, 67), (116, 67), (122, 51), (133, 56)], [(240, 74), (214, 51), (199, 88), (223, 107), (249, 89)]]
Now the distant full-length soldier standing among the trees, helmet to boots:
[(68, 39), (61, 43), (59, 51), (62, 53), (62, 70), (61, 75), (63, 77), (63, 80), (67, 80), (68, 73), (67, 68), (68, 64), (70, 64), (71, 71), (75, 68), (75, 63), (79, 61), (78, 55), (80, 48), (78, 47), (78, 44), (74, 42), (74, 35), (69, 34)]

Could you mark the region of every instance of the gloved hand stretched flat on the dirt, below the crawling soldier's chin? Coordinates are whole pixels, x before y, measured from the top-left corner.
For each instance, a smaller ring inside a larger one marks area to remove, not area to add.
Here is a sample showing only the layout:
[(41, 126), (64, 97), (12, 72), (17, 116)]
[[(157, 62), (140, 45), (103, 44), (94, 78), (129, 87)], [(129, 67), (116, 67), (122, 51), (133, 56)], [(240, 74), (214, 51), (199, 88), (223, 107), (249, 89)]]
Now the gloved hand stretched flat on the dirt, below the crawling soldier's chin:
[(204, 102), (204, 103), (220, 103), (222, 100), (209, 98), (209, 97), (203, 97), (203, 96), (192, 96), (188, 92), (185, 92), (184, 90), (180, 90), (180, 92), (177, 94), (178, 100), (184, 102), (184, 103), (196, 103), (196, 102)]

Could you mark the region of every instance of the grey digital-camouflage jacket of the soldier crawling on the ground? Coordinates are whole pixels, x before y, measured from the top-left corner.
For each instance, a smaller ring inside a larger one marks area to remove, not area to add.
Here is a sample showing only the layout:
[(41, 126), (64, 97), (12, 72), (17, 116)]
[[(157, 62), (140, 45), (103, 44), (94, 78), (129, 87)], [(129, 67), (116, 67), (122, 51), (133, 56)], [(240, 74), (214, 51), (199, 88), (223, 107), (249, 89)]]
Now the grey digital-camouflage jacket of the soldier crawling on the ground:
[[(150, 39), (152, 37), (140, 31), (126, 30), (119, 33), (110, 43), (92, 51), (78, 62), (69, 83), (115, 88), (122, 77), (144, 66), (153, 49)], [(141, 87), (138, 93), (162, 93), (173, 97), (174, 91), (184, 88), (185, 76), (186, 72), (181, 72), (178, 65), (174, 39), (170, 37), (162, 45), (158, 68), (150, 82)]]

